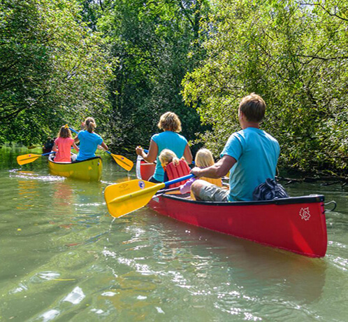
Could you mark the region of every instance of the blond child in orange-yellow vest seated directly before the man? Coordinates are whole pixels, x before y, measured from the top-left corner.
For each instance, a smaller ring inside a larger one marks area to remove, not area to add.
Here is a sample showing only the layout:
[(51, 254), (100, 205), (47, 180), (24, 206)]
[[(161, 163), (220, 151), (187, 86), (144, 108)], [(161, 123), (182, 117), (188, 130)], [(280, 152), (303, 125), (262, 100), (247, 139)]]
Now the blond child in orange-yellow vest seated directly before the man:
[[(208, 148), (201, 148), (196, 153), (196, 158), (194, 160), (196, 167), (200, 168), (206, 168), (210, 167), (211, 165), (214, 165), (214, 158), (212, 158), (212, 153)], [(215, 186), (222, 187), (222, 179), (210, 179), (210, 178), (200, 178), (202, 180), (208, 181), (212, 183)], [(191, 178), (186, 183), (184, 183), (182, 186), (180, 186), (180, 193), (185, 194), (189, 193), (191, 191), (191, 185), (196, 181), (197, 178)], [(192, 199), (194, 199), (194, 195), (191, 193)]]

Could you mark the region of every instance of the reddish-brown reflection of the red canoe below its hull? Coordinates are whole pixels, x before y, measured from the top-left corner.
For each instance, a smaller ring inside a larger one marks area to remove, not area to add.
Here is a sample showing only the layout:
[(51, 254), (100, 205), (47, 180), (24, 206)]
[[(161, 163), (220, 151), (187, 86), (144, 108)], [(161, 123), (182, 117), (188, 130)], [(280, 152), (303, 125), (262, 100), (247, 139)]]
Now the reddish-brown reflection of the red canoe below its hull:
[[(169, 222), (170, 218), (164, 220), (169, 225), (174, 224)], [(212, 267), (213, 271), (224, 267), (223, 270), (231, 274), (231, 281), (242, 284), (244, 288), (252, 289), (257, 285), (258, 288), (272, 289), (277, 285), (278, 291), (282, 290), (287, 297), (306, 303), (318, 300), (323, 293), (328, 267), (324, 259), (307, 258), (183, 223), (175, 224), (177, 230), (181, 228), (189, 234), (193, 243), (196, 240), (197, 247), (191, 246), (185, 251), (191, 253), (191, 265), (202, 278), (211, 277)], [(177, 244), (173, 240), (168, 241), (164, 248), (166, 256), (159, 253), (159, 259), (173, 261), (180, 255), (178, 252), (182, 249), (182, 241), (179, 240)], [(168, 249), (174, 249), (169, 258)]]

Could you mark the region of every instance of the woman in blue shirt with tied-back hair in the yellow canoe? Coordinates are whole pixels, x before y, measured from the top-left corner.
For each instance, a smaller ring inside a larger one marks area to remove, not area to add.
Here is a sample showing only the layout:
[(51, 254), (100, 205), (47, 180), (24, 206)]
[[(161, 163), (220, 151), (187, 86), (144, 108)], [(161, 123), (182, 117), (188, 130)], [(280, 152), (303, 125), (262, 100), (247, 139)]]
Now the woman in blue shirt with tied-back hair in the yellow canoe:
[(94, 133), (96, 128), (96, 121), (94, 118), (86, 118), (82, 126), (86, 130), (78, 132), (78, 136), (75, 137), (75, 144), (80, 142), (80, 151), (76, 161), (83, 161), (90, 158), (94, 158), (96, 148), (102, 146), (106, 151), (108, 151), (108, 146), (103, 142), (103, 139), (99, 134)]

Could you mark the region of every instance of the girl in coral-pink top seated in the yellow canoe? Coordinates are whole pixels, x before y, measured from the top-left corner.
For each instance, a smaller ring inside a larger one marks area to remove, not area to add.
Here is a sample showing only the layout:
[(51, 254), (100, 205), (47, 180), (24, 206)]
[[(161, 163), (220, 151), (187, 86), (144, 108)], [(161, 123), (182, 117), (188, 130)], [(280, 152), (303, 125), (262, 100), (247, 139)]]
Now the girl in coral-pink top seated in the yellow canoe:
[(71, 146), (76, 151), (79, 151), (78, 146), (73, 141), (68, 125), (62, 126), (57, 139), (55, 139), (55, 145), (52, 148), (52, 151), (57, 152), (55, 162), (71, 162)]

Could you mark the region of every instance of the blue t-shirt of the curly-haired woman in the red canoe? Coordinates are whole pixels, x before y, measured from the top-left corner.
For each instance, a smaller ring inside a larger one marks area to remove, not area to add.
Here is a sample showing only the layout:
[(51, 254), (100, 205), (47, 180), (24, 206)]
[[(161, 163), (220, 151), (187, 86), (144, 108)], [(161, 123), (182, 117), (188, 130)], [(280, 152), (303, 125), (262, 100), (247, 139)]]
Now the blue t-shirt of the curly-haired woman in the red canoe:
[[(184, 150), (187, 146), (187, 139), (182, 137), (180, 134), (171, 131), (164, 131), (159, 134), (154, 134), (151, 139), (157, 144), (159, 153), (161, 153), (161, 151), (165, 148), (168, 148), (169, 150), (173, 151), (179, 159), (182, 158), (182, 155), (184, 155)], [(157, 155), (157, 165), (156, 169), (154, 170), (153, 177), (157, 181), (163, 182), (164, 169), (159, 161), (159, 153)]]

